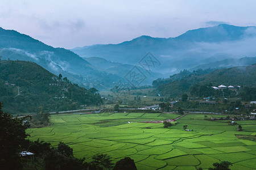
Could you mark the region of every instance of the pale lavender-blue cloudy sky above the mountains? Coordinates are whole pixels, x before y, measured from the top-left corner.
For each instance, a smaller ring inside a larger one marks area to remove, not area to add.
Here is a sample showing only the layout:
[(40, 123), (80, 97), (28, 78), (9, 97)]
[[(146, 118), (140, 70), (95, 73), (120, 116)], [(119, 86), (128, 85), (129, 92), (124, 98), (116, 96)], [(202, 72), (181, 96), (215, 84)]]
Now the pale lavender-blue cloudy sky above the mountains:
[(256, 25), (256, 1), (1, 0), (0, 27), (53, 47), (176, 37), (217, 24)]

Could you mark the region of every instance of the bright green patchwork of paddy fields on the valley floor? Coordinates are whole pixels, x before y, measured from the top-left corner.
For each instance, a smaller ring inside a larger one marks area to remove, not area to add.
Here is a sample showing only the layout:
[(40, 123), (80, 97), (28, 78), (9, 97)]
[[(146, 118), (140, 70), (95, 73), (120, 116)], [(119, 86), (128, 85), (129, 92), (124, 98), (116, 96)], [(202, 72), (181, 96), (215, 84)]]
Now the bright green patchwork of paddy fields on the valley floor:
[[(62, 141), (73, 148), (77, 158), (85, 157), (87, 161), (95, 154), (108, 154), (113, 162), (129, 156), (138, 169), (207, 169), (224, 160), (233, 163), (230, 169), (256, 169), (256, 142), (236, 137), (255, 137), (256, 121), (237, 121), (242, 125), (240, 132), (228, 122), (204, 120), (204, 114), (187, 114), (168, 129), (163, 128), (163, 124), (141, 123), (178, 116), (170, 113), (57, 114), (51, 117), (51, 126), (28, 129), (27, 133), (31, 140), (39, 138), (53, 146)], [(193, 131), (183, 130), (184, 125)]]

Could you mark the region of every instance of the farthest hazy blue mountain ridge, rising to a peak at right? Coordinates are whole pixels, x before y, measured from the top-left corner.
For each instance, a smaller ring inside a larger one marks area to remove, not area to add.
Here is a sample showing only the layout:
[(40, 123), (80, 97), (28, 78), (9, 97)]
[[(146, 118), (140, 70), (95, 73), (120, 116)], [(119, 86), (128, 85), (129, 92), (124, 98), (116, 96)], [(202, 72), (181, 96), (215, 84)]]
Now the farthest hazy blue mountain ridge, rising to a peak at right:
[(256, 27), (220, 24), (187, 31), (174, 38), (141, 36), (120, 44), (85, 46), (72, 51), (81, 57), (101, 57), (131, 65), (138, 65), (151, 52), (162, 63), (153, 71), (170, 75), (221, 59), (255, 57), (255, 40)]

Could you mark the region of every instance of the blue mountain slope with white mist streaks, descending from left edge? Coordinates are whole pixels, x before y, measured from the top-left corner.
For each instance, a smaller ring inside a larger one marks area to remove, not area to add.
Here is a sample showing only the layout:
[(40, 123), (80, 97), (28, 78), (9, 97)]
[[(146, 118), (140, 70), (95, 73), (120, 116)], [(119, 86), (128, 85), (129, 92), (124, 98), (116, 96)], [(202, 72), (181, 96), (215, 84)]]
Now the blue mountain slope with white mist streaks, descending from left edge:
[[(116, 75), (98, 71), (89, 62), (64, 48), (53, 48), (30, 36), (0, 28), (2, 59), (33, 61), (54, 74), (63, 74), (85, 87), (111, 87)], [(104, 84), (104, 85), (102, 85)]]

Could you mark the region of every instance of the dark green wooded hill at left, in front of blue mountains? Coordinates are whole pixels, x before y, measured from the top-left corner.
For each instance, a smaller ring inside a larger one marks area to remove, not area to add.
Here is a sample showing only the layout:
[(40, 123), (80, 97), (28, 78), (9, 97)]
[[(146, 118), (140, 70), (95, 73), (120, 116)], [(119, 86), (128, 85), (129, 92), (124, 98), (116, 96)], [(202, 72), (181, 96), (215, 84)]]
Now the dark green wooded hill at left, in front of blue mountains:
[(64, 80), (34, 62), (2, 61), (0, 101), (5, 111), (14, 114), (33, 113), (40, 107), (44, 112), (65, 111), (100, 103), (94, 88), (86, 90)]

